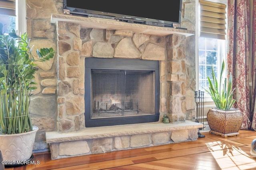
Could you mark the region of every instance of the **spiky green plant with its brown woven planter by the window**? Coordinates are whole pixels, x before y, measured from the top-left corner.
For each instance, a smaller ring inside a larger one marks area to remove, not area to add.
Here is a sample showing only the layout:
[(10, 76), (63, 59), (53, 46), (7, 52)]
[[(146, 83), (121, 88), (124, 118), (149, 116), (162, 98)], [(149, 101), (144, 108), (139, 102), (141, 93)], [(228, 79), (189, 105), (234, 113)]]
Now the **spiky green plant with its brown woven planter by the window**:
[[(232, 76), (223, 78), (225, 62), (223, 60), (220, 71), (219, 81), (214, 74), (212, 66), (212, 79), (208, 76), (208, 92), (216, 105), (216, 108), (209, 109), (207, 113), (207, 121), (210, 127), (210, 133), (221, 135), (222, 137), (238, 136), (238, 131), (242, 125), (243, 116), (240, 110), (232, 108), (234, 102), (234, 90), (232, 89)], [(222, 80), (224, 82), (222, 83)]]

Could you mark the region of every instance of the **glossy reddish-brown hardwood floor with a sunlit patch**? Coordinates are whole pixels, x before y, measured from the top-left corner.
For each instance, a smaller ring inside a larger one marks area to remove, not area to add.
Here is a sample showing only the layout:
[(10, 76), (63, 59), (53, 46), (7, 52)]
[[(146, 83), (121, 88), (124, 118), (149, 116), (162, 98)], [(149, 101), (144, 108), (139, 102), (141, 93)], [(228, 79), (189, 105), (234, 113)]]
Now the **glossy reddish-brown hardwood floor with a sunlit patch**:
[(208, 132), (197, 141), (140, 149), (50, 159), (50, 152), (34, 153), (30, 164), (6, 170), (256, 170), (250, 154), (256, 131), (240, 130), (240, 136), (223, 138)]

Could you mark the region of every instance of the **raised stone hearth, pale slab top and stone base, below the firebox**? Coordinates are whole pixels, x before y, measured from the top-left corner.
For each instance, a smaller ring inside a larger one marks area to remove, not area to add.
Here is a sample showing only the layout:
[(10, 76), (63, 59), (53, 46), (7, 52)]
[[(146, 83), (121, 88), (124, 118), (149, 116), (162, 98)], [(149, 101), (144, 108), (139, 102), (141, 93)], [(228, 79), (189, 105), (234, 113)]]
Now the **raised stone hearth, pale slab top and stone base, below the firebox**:
[(195, 141), (202, 123), (138, 123), (106, 127), (87, 127), (81, 131), (46, 132), (52, 159), (126, 150), (168, 143)]

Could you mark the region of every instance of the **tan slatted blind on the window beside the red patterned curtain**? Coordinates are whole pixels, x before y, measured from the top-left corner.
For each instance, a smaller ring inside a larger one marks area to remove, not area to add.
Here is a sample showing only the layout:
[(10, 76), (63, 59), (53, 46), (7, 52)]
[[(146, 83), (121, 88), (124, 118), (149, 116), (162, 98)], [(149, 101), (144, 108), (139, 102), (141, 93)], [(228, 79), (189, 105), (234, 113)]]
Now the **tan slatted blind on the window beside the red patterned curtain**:
[(226, 39), (226, 5), (199, 0), (200, 37)]

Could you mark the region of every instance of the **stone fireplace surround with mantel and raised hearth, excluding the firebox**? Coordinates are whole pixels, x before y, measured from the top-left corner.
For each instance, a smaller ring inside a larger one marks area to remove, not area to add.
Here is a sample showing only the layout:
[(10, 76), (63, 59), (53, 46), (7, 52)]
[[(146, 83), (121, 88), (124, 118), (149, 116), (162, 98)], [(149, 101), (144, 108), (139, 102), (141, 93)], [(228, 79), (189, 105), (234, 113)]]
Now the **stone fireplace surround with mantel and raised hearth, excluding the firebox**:
[[(51, 158), (196, 140), (203, 125), (187, 119), (186, 37), (194, 31), (52, 14), (57, 33), (57, 131), (46, 132)], [(154, 123), (85, 127), (84, 59), (160, 62), (160, 118)], [(169, 124), (162, 123), (168, 115)]]

